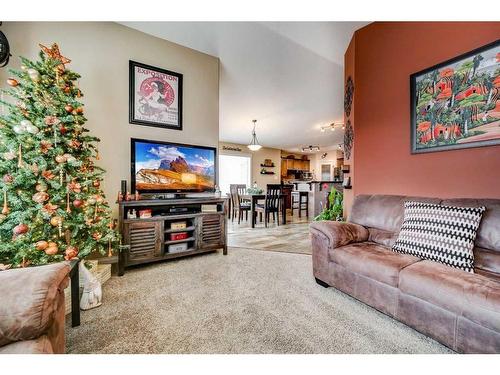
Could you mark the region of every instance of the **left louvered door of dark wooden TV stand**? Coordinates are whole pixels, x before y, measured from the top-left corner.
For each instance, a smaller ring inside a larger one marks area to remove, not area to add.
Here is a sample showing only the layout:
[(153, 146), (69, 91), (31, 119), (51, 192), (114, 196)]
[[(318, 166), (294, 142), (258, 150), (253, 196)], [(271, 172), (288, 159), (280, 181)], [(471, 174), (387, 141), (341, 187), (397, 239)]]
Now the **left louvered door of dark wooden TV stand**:
[(141, 263), (162, 255), (163, 221), (125, 224), (125, 242), (130, 245), (127, 264)]

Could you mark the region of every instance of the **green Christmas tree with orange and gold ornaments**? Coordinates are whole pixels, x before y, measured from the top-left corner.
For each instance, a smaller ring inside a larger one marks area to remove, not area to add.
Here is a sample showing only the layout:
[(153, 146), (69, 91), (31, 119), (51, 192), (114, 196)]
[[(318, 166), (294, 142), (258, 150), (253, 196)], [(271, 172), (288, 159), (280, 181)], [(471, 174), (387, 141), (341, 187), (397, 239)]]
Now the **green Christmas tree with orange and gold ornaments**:
[(109, 253), (118, 239), (80, 76), (57, 44), (40, 47), (38, 61), (10, 71), (11, 100), (0, 103), (0, 263), (12, 267)]

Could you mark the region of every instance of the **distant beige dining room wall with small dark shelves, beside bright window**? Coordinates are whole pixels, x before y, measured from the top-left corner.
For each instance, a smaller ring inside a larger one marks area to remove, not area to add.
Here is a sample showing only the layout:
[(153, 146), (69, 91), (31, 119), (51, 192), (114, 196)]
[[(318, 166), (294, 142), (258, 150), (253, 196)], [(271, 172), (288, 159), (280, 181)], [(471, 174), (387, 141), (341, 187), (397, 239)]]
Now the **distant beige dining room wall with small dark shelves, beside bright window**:
[[(223, 147), (239, 148), (241, 151), (223, 150)], [(252, 157), (252, 184), (254, 181), (257, 185), (265, 189), (267, 184), (279, 184), (281, 182), (281, 150), (277, 148), (262, 147), (259, 151), (250, 151), (246, 145), (235, 143), (219, 142), (219, 153), (221, 155), (251, 155)], [(266, 168), (274, 171), (274, 175), (260, 174), (261, 166), (264, 159), (271, 159), (276, 167)]]

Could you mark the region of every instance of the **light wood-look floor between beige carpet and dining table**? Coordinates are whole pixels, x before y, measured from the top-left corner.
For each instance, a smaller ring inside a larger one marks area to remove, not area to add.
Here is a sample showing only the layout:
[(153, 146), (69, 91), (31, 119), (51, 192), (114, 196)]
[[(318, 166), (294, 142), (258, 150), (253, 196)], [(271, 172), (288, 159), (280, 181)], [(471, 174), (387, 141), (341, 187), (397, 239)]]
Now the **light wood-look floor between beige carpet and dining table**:
[(309, 223), (239, 227), (229, 230), (229, 246), (285, 253), (312, 254)]

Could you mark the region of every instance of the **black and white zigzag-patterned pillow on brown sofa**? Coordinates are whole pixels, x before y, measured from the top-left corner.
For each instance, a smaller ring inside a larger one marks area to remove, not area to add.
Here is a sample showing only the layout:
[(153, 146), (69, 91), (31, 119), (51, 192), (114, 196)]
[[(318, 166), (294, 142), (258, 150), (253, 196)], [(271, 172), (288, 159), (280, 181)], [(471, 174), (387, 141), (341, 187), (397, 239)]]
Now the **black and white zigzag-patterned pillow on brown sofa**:
[(474, 272), (474, 241), (484, 207), (405, 202), (392, 250)]

